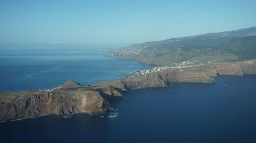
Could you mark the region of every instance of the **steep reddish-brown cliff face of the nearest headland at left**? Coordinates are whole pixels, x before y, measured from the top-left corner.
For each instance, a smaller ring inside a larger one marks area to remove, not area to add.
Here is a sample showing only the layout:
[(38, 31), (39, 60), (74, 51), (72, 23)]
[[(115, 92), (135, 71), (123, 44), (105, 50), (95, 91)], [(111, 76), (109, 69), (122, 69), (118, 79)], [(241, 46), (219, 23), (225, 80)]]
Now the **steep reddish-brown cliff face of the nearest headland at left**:
[(28, 91), (0, 94), (0, 121), (42, 114), (104, 113), (109, 102), (97, 91)]

